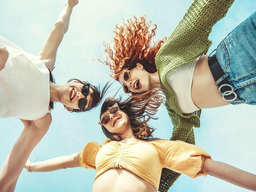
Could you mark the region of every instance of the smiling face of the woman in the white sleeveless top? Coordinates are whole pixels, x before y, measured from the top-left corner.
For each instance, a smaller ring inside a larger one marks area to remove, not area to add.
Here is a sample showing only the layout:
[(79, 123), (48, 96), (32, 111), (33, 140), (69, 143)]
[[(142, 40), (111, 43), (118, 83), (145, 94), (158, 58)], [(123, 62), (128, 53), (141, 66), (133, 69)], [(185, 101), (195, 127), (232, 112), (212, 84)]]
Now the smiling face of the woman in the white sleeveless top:
[[(76, 109), (80, 110), (78, 107), (79, 100), (85, 98), (82, 94), (82, 87), (84, 85), (79, 82), (68, 82), (63, 84), (60, 91), (60, 102), (67, 106), (68, 110)], [(92, 89), (90, 87), (89, 93), (87, 95), (87, 103), (85, 109), (89, 106), (92, 97)]]

